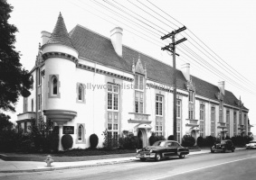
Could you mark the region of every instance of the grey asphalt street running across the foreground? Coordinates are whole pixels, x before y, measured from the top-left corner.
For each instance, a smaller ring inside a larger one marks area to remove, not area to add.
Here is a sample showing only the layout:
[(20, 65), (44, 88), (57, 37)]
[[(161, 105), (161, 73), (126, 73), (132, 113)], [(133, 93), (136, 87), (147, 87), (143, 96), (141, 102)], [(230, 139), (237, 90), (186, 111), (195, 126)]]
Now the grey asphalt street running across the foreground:
[(255, 179), (256, 150), (238, 150), (227, 153), (207, 153), (186, 156), (184, 159), (171, 157), (160, 162), (139, 160), (105, 166), (90, 166), (51, 172), (5, 174), (6, 180), (45, 179)]

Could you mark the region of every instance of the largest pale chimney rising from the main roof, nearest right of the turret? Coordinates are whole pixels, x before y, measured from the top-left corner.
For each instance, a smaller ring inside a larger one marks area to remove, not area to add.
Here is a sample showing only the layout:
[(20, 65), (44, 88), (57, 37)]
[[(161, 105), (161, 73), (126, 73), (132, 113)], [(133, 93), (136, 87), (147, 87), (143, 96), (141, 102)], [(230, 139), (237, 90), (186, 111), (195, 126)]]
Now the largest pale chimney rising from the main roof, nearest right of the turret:
[(119, 57), (122, 57), (122, 31), (123, 29), (120, 27), (116, 27), (113, 30), (110, 31), (110, 38), (112, 45), (116, 51), (116, 53), (119, 55)]

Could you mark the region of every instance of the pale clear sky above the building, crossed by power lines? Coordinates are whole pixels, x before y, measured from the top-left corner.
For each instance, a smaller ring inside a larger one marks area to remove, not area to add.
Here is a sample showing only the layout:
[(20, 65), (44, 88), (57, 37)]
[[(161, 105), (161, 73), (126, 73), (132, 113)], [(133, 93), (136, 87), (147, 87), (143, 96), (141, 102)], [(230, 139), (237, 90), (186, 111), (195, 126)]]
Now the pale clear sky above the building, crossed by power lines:
[[(68, 31), (76, 24), (109, 37), (114, 27), (123, 28), (123, 44), (172, 66), (172, 57), (161, 47), (166, 33), (185, 27), (176, 40), (176, 67), (190, 63), (190, 72), (213, 85), (225, 81), (225, 89), (250, 110), (249, 119), (256, 134), (256, 1), (252, 0), (8, 0), (14, 6), (9, 23), (14, 23), (15, 47), (21, 51), (21, 63), (31, 70), (35, 63), (41, 31), (52, 32), (62, 12)], [(122, 8), (119, 10), (108, 4)], [(102, 4), (100, 6), (99, 4)], [(154, 6), (155, 4), (156, 6)], [(145, 6), (147, 5), (147, 6)], [(127, 8), (127, 9), (126, 9)], [(154, 13), (153, 11), (156, 13)], [(111, 11), (109, 11), (111, 9)], [(113, 11), (119, 14), (114, 14)], [(121, 15), (120, 15), (121, 14)], [(125, 17), (123, 17), (124, 15)], [(139, 21), (138, 21), (139, 19)], [(185, 50), (186, 49), (186, 50)], [(188, 53), (190, 52), (190, 53)], [(192, 56), (194, 55), (194, 56)], [(214, 68), (214, 70), (213, 70)], [(8, 112), (12, 121), (23, 112), (23, 99), (16, 112)]]

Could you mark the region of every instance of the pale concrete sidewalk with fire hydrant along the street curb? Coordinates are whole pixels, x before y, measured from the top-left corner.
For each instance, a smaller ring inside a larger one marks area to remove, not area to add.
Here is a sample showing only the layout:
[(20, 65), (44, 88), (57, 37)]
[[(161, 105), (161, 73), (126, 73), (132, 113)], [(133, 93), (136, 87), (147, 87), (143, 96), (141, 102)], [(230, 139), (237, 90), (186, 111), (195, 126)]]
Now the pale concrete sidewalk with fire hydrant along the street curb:
[[(245, 148), (236, 148), (242, 150)], [(210, 149), (202, 149), (201, 151), (190, 152), (188, 156), (210, 153)], [(54, 160), (54, 157), (53, 157)], [(62, 170), (69, 168), (81, 168), (86, 166), (104, 166), (119, 163), (128, 163), (131, 161), (139, 160), (134, 157), (119, 157), (119, 158), (106, 158), (99, 160), (86, 160), (76, 162), (53, 162), (52, 166), (46, 166), (46, 163), (36, 161), (5, 161), (0, 159), (0, 173), (21, 173), (21, 172), (39, 172), (39, 171), (52, 171)]]

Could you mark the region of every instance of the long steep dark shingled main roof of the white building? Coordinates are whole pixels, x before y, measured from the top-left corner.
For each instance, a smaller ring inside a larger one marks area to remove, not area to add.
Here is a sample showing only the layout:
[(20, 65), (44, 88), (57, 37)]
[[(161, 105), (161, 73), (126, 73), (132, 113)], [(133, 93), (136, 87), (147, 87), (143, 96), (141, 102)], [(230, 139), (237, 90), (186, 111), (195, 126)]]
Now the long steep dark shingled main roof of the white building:
[[(80, 58), (90, 59), (96, 63), (100, 63), (107, 67), (114, 67), (122, 71), (132, 73), (133, 61), (136, 63), (138, 56), (142, 65), (147, 67), (147, 78), (164, 85), (173, 85), (174, 68), (158, 61), (156, 58), (151, 58), (135, 49), (123, 46), (122, 58), (115, 52), (111, 40), (96, 32), (90, 31), (80, 25), (75, 26), (71, 32), (71, 42), (75, 49), (78, 50)], [(177, 88), (186, 89), (185, 76), (180, 70), (177, 70)], [(218, 101), (216, 93), (220, 90), (217, 85), (212, 85), (200, 78), (191, 76), (195, 86), (195, 93), (206, 98)], [(225, 90), (224, 103), (238, 106), (235, 102), (238, 99)]]

